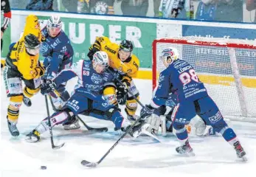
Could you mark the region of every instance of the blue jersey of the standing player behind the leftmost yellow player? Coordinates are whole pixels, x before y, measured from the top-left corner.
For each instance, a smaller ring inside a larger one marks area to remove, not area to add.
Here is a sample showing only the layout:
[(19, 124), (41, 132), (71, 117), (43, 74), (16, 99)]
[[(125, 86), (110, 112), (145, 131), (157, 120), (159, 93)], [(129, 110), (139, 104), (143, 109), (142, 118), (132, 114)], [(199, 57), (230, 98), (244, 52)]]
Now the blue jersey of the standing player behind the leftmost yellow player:
[(44, 56), (44, 66), (48, 67), (46, 74), (47, 77), (55, 77), (58, 72), (72, 65), (74, 50), (63, 30), (55, 38), (49, 36), (46, 27), (41, 32), (45, 39), (40, 52)]

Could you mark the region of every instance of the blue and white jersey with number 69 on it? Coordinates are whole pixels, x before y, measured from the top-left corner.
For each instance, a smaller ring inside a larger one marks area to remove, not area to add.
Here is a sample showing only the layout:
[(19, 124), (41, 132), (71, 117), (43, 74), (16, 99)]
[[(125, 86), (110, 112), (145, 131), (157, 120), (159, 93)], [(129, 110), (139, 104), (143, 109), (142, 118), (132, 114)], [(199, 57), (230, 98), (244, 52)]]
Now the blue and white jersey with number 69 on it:
[(64, 69), (53, 81), (57, 87), (61, 83), (78, 77), (75, 91), (83, 92), (91, 100), (103, 100), (103, 87), (113, 85), (114, 77), (111, 73), (105, 71), (102, 74), (97, 73), (92, 66), (91, 60), (79, 60), (74, 63), (71, 69)]

